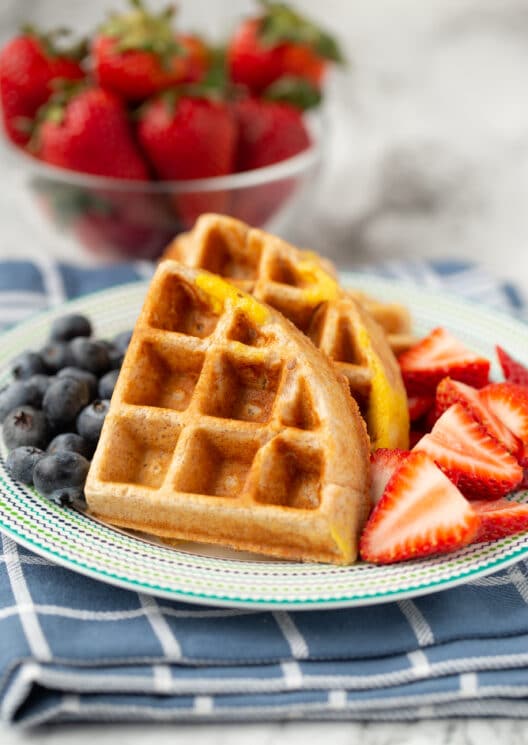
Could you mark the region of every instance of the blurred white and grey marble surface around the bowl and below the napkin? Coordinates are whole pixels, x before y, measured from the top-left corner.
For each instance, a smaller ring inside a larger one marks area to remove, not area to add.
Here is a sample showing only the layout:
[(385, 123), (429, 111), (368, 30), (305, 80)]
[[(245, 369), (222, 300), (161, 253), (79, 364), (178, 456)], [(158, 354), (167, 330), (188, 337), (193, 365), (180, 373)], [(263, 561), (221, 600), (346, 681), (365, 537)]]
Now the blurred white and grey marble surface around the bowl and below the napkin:
[[(339, 30), (352, 64), (331, 82), (329, 158), (313, 210), (288, 236), (341, 266), (456, 257), (482, 263), (528, 293), (528, 4), (526, 0), (298, 0)], [(2, 0), (0, 37), (27, 16), (89, 28), (115, 3)], [(182, 0), (182, 25), (211, 32), (251, 7)], [(97, 7), (95, 7), (97, 6)], [(353, 9), (352, 9), (353, 8)], [(77, 254), (38, 217), (21, 174), (0, 154), (0, 257)], [(522, 721), (416, 724), (86, 726), (25, 734), (2, 745), (418, 745), (528, 742)]]

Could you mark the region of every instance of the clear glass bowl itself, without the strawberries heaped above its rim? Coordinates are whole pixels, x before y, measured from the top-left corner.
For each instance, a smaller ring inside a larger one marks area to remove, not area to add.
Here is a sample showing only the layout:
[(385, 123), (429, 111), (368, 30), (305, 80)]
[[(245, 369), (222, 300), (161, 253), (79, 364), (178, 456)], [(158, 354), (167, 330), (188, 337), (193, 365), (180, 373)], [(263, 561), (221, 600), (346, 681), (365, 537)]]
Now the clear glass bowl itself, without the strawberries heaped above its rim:
[(203, 212), (287, 231), (313, 194), (323, 154), (323, 117), (307, 117), (312, 145), (287, 160), (229, 176), (138, 182), (49, 166), (10, 147), (51, 226), (92, 259), (156, 259)]

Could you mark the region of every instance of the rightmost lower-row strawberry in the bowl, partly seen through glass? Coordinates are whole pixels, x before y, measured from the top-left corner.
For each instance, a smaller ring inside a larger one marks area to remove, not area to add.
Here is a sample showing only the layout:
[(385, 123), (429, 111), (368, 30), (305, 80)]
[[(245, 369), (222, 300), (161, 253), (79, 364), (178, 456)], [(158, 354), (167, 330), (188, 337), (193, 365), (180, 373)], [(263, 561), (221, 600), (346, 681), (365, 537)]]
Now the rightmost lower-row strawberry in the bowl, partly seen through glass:
[[(238, 122), (237, 171), (279, 163), (303, 152), (311, 139), (301, 112), (285, 103), (250, 98), (234, 106)], [(291, 196), (294, 177), (235, 191), (232, 214), (251, 225), (265, 225)]]

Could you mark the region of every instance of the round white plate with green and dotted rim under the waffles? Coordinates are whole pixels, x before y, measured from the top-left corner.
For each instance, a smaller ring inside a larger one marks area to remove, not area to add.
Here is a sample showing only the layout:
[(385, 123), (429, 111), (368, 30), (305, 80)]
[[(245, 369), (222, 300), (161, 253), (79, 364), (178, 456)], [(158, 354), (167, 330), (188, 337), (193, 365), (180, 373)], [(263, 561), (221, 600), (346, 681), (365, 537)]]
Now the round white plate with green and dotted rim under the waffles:
[[(344, 275), (343, 280), (387, 301), (404, 302), (418, 334), (443, 325), (491, 359), (494, 344), (499, 342), (528, 364), (528, 327), (509, 316), (394, 280), (359, 274)], [(0, 386), (9, 379), (9, 361), (16, 354), (42, 346), (54, 317), (79, 311), (93, 320), (98, 336), (113, 336), (133, 325), (146, 287), (145, 283), (136, 283), (96, 293), (4, 334), (0, 343)], [(496, 367), (493, 374), (499, 377)], [(198, 544), (169, 548), (73, 509), (55, 506), (14, 482), (5, 469), (5, 451), (2, 456), (0, 530), (73, 571), (174, 600), (289, 610), (368, 605), (447, 589), (528, 556), (528, 533), (391, 566), (358, 563), (334, 567), (274, 561)], [(528, 492), (515, 498), (528, 499)]]

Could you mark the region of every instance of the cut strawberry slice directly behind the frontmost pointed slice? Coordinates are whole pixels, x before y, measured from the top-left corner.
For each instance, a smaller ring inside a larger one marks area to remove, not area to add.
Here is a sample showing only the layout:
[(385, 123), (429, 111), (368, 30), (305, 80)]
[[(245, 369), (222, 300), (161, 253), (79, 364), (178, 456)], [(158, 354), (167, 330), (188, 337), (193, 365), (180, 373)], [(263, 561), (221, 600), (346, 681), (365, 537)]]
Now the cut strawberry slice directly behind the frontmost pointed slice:
[(523, 470), (461, 405), (442, 414), (413, 448), (428, 453), (469, 499), (496, 499), (514, 489)]

